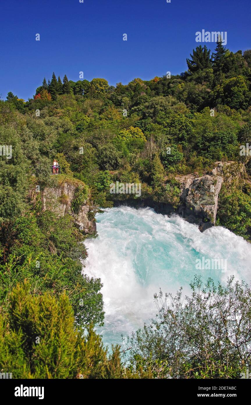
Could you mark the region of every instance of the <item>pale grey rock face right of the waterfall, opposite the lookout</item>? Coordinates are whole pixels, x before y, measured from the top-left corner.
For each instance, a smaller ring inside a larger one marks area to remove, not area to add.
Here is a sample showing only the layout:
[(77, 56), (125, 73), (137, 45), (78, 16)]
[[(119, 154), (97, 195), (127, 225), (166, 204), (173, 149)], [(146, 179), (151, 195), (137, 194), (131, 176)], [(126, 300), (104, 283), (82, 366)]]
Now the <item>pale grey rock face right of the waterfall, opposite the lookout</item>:
[(215, 225), (223, 177), (189, 175), (177, 176), (176, 179), (181, 183), (179, 214), (188, 222), (199, 225), (202, 231)]

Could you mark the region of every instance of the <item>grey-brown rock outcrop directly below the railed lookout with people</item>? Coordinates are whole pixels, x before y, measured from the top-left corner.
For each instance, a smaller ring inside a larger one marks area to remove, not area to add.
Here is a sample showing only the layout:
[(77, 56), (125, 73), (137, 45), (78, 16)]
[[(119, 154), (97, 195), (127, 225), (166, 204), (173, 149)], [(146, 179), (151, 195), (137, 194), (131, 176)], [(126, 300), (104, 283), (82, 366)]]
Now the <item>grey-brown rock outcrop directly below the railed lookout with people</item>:
[(76, 225), (85, 233), (96, 232), (96, 223), (94, 219), (89, 220), (88, 213), (93, 207), (86, 201), (79, 209), (78, 214), (72, 210), (72, 200), (76, 191), (76, 185), (65, 182), (57, 187), (46, 187), (41, 192), (42, 210), (49, 210), (57, 216), (62, 217), (70, 214), (74, 218)]

